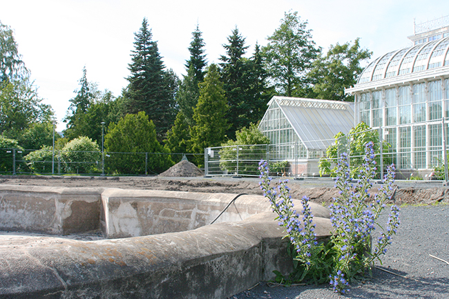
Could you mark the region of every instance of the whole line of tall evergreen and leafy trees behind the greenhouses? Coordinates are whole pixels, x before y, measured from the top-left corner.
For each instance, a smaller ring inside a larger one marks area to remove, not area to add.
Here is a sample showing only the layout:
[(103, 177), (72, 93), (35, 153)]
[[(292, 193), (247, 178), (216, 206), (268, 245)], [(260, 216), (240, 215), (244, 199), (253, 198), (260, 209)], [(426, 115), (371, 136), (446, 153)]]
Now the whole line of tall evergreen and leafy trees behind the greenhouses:
[[(47, 153), (54, 112), (42, 104), (12, 33), (0, 23), (0, 148)], [(297, 12), (286, 12), (266, 46), (256, 44), (252, 53), (247, 53), (249, 46), (238, 28), (231, 30), (218, 64), (208, 64), (197, 25), (184, 64), (187, 75), (180, 78), (164, 65), (147, 19), (134, 35), (128, 85), (121, 95), (99, 90), (83, 68), (64, 119), (66, 129), (55, 136), (57, 149), (75, 139), (75, 144), (82, 140), (81, 144), (101, 146), (104, 133), (108, 153), (167, 154), (164, 161), (158, 157), (160, 161), (153, 163), (163, 171), (178, 162), (170, 153), (202, 153), (206, 147), (235, 141), (239, 131), (254, 131), (274, 95), (352, 101), (344, 88), (356, 83), (361, 64), (372, 55), (361, 48), (359, 39), (331, 45), (324, 54), (307, 21)], [(200, 165), (202, 159), (194, 162)], [(129, 161), (116, 164), (108, 171), (142, 173), (142, 168), (126, 168)]]

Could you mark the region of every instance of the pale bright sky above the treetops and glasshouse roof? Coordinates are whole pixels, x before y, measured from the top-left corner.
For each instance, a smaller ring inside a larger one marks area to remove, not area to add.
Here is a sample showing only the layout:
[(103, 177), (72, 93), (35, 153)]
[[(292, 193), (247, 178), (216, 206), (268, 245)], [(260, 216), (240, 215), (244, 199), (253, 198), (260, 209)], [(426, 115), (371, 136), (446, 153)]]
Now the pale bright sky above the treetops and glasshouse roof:
[(119, 96), (130, 75), (135, 32), (148, 19), (166, 68), (186, 75), (189, 44), (197, 24), (209, 64), (220, 62), (224, 44), (238, 28), (249, 46), (267, 44), (285, 12), (298, 12), (323, 52), (360, 38), (372, 59), (412, 46), (414, 22), (449, 15), (447, 0), (0, 0), (0, 21), (14, 30), (19, 53), (43, 103), (64, 130), (69, 100), (82, 69), (100, 90)]

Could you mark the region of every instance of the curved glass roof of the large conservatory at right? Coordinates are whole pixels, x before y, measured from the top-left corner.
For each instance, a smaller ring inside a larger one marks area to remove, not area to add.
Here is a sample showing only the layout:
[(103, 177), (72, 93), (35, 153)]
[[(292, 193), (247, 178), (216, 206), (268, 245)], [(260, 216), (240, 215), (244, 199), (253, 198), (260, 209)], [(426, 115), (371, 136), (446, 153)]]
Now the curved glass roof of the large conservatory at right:
[(449, 37), (389, 52), (372, 61), (357, 84), (449, 65)]

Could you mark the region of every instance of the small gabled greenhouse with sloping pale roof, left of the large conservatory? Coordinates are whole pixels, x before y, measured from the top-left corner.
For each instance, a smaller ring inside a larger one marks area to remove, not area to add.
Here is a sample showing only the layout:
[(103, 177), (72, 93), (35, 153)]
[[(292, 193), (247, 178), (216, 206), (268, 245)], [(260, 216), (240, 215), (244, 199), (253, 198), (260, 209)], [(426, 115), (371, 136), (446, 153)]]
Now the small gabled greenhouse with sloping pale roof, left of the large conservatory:
[(314, 176), (334, 136), (353, 126), (353, 103), (276, 96), (268, 103), (259, 130), (270, 139), (269, 160), (288, 161), (295, 176)]

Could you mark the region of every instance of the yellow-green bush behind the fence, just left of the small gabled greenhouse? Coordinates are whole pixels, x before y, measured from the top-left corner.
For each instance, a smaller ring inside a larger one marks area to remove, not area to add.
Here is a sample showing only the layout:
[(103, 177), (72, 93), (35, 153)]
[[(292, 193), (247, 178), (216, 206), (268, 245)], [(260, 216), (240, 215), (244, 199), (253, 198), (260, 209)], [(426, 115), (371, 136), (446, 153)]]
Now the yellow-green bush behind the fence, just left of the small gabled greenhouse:
[[(242, 128), (236, 132), (236, 140), (229, 140), (221, 146), (220, 150), (220, 168), (230, 173), (236, 171), (237, 146), (239, 147), (239, 175), (257, 175), (257, 163), (267, 157), (267, 148), (260, 144), (269, 144), (269, 139), (263, 135), (256, 124), (249, 124), (248, 128)], [(252, 161), (240, 161), (252, 160)]]

